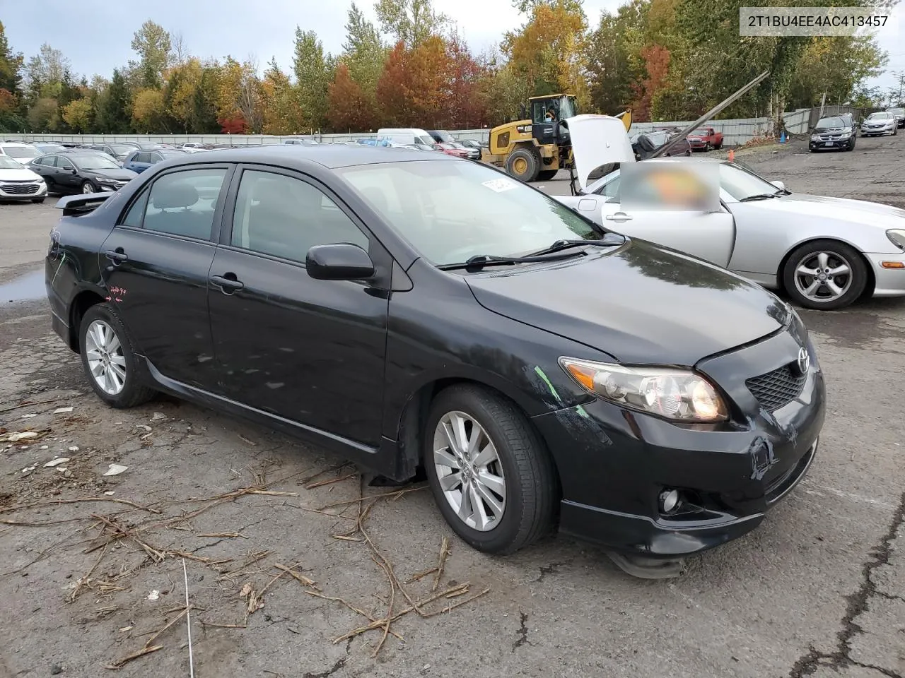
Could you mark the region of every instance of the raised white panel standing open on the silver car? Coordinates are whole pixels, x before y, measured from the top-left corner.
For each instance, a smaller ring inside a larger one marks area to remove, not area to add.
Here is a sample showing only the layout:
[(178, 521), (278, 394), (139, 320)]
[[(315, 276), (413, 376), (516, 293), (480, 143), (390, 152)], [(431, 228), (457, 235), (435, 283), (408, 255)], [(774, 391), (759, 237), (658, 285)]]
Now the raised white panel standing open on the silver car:
[(572, 142), (578, 185), (603, 176), (615, 163), (633, 163), (634, 152), (624, 122), (613, 116), (580, 115), (563, 120)]

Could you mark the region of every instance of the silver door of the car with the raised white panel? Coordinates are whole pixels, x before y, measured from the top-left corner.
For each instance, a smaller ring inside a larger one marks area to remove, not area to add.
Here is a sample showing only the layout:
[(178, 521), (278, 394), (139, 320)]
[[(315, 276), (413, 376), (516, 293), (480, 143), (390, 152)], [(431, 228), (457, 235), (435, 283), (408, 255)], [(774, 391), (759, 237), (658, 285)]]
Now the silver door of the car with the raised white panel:
[(729, 266), (735, 221), (725, 207), (720, 205), (719, 212), (623, 209), (618, 184), (616, 175), (600, 193), (582, 196), (577, 211), (610, 231), (688, 252), (724, 268)]

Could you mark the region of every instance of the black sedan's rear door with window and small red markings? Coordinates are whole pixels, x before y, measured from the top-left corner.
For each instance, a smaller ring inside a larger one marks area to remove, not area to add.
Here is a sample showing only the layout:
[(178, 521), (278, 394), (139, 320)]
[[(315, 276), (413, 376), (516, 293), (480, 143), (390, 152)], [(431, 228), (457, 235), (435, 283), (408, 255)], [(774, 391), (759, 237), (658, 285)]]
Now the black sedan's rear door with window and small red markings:
[(216, 386), (207, 277), (229, 173), (210, 165), (160, 175), (130, 203), (99, 255), (109, 300), (138, 353), (165, 377), (205, 390)]

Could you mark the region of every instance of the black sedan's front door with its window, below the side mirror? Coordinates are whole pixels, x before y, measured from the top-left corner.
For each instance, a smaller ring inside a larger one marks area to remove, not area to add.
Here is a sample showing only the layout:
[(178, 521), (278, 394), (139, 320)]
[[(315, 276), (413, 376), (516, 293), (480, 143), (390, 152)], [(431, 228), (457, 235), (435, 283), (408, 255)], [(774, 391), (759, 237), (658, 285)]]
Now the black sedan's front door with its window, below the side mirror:
[[(211, 268), (214, 353), (227, 397), (377, 447), (388, 297), (367, 283), (315, 280), (314, 245), (380, 244), (323, 186), (246, 167)], [(236, 180), (233, 180), (233, 184)]]

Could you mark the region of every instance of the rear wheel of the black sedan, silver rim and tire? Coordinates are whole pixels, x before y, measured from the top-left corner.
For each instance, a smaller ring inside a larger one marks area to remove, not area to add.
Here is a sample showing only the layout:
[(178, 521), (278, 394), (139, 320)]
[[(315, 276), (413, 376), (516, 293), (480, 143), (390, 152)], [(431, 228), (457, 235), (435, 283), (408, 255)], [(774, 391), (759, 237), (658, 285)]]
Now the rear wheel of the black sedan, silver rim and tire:
[(138, 381), (138, 358), (129, 333), (110, 304), (97, 304), (85, 312), (79, 348), (81, 366), (100, 400), (114, 408), (131, 408), (154, 396)]

